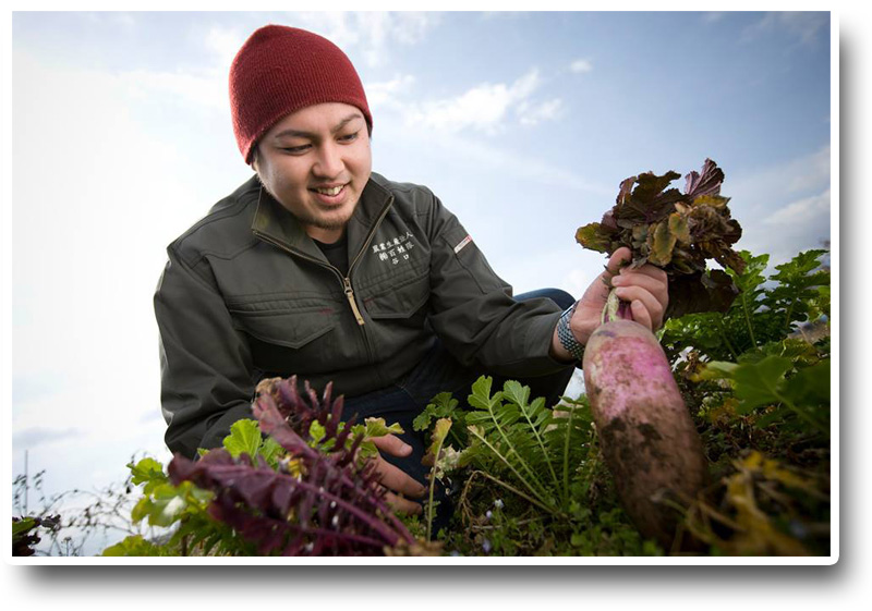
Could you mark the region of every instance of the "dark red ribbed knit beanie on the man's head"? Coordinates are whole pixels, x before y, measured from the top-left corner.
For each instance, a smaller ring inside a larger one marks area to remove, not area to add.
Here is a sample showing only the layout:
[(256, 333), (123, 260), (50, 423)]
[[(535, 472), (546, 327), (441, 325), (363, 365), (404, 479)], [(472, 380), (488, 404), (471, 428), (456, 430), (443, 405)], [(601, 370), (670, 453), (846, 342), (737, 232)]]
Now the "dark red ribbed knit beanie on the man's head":
[(317, 34), (264, 26), (251, 35), (230, 66), (233, 133), (246, 163), (257, 139), (280, 119), (324, 102), (358, 107), (372, 133), (373, 118), (351, 60)]

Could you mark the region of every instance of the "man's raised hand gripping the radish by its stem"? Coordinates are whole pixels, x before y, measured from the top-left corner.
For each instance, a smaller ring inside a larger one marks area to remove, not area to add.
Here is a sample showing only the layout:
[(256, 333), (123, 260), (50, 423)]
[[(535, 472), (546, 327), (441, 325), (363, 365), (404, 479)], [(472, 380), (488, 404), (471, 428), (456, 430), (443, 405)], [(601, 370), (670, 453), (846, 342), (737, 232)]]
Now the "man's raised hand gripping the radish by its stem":
[[(630, 249), (622, 246), (609, 257), (606, 270), (601, 273), (579, 300), (569, 321), (569, 328), (576, 339), (586, 344), (591, 333), (600, 327), (603, 307), (608, 298), (610, 280), (617, 296), (630, 303), (633, 320), (656, 331), (663, 326), (663, 315), (669, 304), (669, 288), (666, 272), (653, 265), (644, 265), (639, 269), (620, 267), (621, 262), (631, 260)], [(553, 354), (561, 359), (571, 361), (571, 355), (564, 350), (557, 338), (557, 329), (552, 340)]]

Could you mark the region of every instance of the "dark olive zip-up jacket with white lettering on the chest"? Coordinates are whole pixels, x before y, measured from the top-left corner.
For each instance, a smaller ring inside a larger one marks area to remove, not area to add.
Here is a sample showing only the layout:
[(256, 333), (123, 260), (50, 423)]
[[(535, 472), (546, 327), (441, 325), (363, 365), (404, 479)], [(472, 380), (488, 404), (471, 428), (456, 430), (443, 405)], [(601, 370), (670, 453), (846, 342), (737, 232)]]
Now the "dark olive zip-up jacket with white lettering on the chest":
[(374, 173), (348, 250), (343, 277), (256, 176), (169, 245), (155, 314), (170, 450), (220, 445), (264, 377), (355, 396), (410, 371), (436, 335), (498, 375), (566, 366), (548, 354), (559, 308), (512, 300), (426, 187)]

